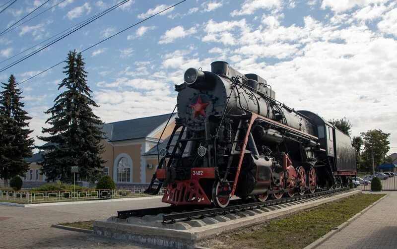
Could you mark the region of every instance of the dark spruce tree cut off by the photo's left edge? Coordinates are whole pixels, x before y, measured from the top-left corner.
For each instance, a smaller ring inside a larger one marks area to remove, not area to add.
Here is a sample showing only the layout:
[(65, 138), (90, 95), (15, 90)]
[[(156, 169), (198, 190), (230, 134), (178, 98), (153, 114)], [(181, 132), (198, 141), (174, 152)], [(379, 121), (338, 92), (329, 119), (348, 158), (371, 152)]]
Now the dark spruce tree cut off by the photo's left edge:
[(20, 100), (22, 92), (17, 88), (13, 74), (7, 83), (1, 82), (0, 92), (0, 178), (6, 182), (15, 176), (23, 176), (29, 170), (25, 157), (32, 156), (34, 139), (29, 138), (28, 113)]

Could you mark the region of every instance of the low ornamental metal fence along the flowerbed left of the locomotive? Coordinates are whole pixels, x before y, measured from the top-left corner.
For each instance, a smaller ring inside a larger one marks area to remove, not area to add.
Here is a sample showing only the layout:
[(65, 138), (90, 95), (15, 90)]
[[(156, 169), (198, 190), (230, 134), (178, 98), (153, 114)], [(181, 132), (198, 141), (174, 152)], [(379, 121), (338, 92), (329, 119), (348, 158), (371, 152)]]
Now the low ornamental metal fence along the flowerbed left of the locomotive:
[[(81, 200), (101, 200), (151, 196), (143, 193), (145, 187), (130, 189), (83, 189), (83, 190), (53, 190), (53, 191), (3, 191), (0, 190), (0, 201), (22, 204), (66, 202)], [(163, 195), (162, 188), (158, 195)]]

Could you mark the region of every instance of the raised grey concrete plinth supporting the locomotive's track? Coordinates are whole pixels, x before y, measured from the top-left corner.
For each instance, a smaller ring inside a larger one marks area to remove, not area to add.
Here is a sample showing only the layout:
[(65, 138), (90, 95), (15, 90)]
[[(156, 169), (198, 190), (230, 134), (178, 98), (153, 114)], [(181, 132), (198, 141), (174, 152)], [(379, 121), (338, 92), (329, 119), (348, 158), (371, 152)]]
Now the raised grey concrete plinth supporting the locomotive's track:
[(361, 190), (341, 192), (327, 198), (313, 199), (310, 202), (295, 202), (295, 205), (278, 205), (277, 208), (269, 206), (258, 209), (260, 211), (247, 210), (232, 215), (206, 217), (202, 220), (174, 224), (163, 224), (161, 215), (134, 217), (127, 220), (111, 217), (107, 220), (94, 221), (94, 234), (160, 247), (193, 249), (199, 241), (220, 233), (263, 223), (269, 219), (292, 214), (360, 192)]

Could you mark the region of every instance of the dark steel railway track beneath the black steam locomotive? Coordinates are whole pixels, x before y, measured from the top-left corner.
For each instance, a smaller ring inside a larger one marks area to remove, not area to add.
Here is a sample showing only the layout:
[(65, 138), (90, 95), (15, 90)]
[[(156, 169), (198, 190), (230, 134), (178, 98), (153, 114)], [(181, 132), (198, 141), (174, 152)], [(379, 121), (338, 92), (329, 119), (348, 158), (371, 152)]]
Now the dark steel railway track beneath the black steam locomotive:
[(304, 195), (296, 195), (293, 197), (285, 197), (281, 199), (267, 200), (264, 202), (244, 202), (242, 200), (234, 200), (230, 202), (230, 205), (225, 208), (211, 208), (208, 206), (168, 206), (168, 207), (156, 207), (146, 209), (134, 209), (117, 211), (117, 217), (120, 219), (127, 219), (129, 217), (143, 217), (145, 215), (161, 215), (163, 216), (163, 223), (174, 223), (179, 221), (189, 221), (192, 219), (202, 219), (205, 217), (211, 217), (216, 215), (223, 215), (228, 213), (236, 213), (239, 211), (252, 210), (261, 207), (267, 207), (282, 203), (294, 202), (313, 198), (324, 195), (334, 195), (341, 191), (354, 190), (349, 187), (337, 188), (332, 190), (320, 190), (315, 193), (308, 193)]

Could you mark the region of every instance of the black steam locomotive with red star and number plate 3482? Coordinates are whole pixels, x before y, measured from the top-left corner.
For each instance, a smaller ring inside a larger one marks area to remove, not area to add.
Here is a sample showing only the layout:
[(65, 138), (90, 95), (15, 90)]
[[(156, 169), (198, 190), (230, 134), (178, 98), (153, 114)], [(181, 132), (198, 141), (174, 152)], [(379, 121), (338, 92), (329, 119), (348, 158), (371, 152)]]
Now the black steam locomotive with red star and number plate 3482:
[(189, 68), (175, 85), (178, 118), (146, 193), (174, 205), (281, 198), (349, 185), (350, 137), (322, 117), (276, 101), (266, 80), (227, 62)]

